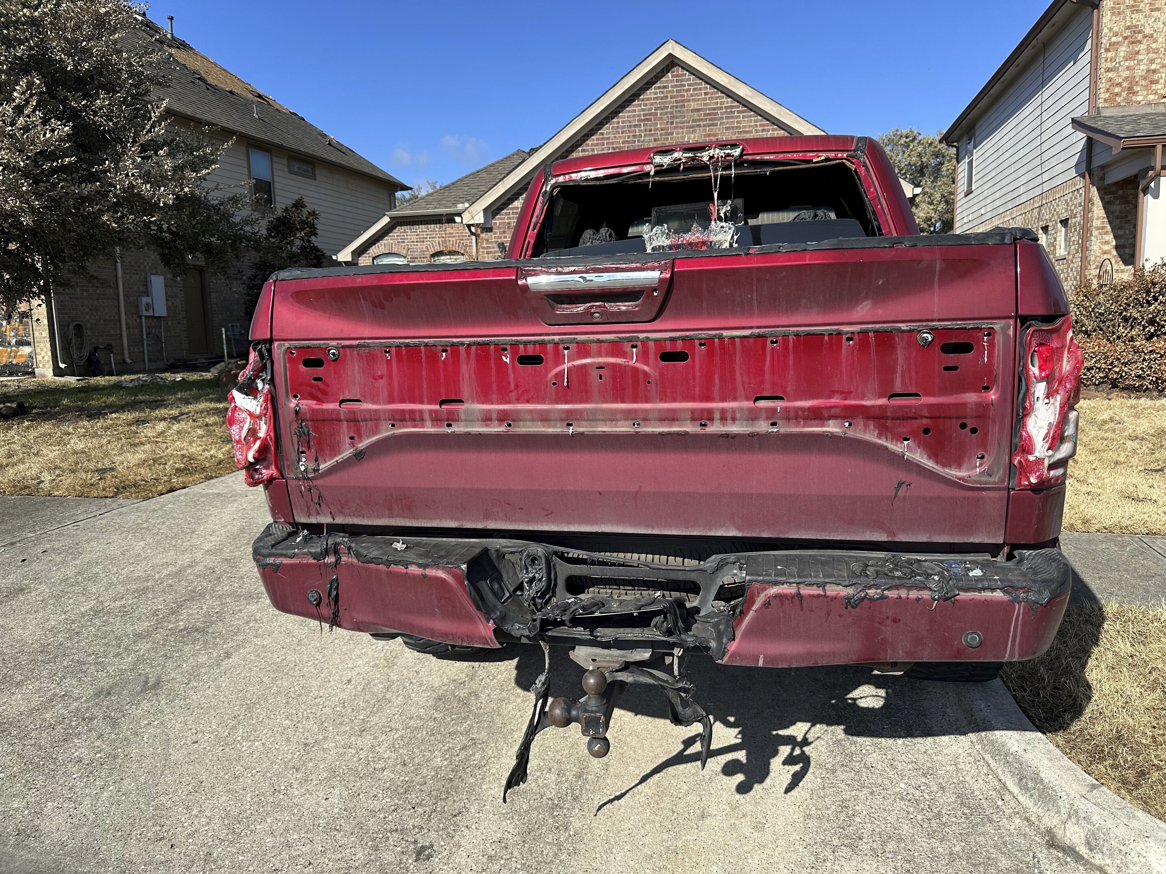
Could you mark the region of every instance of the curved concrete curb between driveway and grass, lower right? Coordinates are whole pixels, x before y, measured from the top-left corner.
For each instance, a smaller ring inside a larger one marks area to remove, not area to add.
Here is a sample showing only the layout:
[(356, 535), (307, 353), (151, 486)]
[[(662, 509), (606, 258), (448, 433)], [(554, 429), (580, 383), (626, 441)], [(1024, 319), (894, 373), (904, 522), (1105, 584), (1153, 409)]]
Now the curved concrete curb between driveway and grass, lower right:
[(1166, 823), (1123, 801), (1070, 762), (1028, 721), (1004, 684), (956, 696), (969, 739), (1053, 839), (1109, 874), (1166, 874)]

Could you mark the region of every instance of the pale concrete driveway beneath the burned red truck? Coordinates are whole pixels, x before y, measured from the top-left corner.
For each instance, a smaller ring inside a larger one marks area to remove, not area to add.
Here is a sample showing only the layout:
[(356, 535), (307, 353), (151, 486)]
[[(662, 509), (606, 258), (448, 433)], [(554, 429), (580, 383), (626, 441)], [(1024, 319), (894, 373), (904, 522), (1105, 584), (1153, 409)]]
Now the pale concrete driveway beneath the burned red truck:
[(0, 537), (0, 871), (1093, 871), (946, 716), (960, 686), (858, 668), (696, 664), (703, 773), (633, 688), (606, 759), (547, 732), (504, 806), (541, 653), (442, 661), (276, 613), (238, 475), (94, 509)]

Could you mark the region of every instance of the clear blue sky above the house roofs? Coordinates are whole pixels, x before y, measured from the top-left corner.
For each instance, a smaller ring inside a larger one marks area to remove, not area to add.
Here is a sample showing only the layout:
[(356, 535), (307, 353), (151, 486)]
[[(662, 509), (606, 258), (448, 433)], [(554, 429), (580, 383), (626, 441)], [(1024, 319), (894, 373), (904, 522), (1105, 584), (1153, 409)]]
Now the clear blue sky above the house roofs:
[(1046, 6), (155, 0), (149, 16), (412, 184), (540, 145), (668, 38), (830, 133), (934, 133)]

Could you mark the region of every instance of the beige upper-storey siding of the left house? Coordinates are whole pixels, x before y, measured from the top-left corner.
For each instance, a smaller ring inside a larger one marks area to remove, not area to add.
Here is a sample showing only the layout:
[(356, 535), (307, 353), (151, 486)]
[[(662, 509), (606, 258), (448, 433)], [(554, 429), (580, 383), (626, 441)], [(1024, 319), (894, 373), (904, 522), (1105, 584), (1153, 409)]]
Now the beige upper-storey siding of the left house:
[[(210, 174), (212, 185), (231, 186), (230, 193), (250, 191), (247, 164), (247, 141), (237, 138), (223, 154), (219, 167)], [(316, 178), (309, 179), (288, 172), (286, 149), (255, 143), (272, 153), (275, 207), (286, 206), (297, 197), (303, 197), (308, 206), (319, 211), (319, 235), (316, 245), (329, 256), (367, 230), (377, 219), (393, 209), (393, 191), (388, 183), (361, 176), (322, 161), (312, 160)]]

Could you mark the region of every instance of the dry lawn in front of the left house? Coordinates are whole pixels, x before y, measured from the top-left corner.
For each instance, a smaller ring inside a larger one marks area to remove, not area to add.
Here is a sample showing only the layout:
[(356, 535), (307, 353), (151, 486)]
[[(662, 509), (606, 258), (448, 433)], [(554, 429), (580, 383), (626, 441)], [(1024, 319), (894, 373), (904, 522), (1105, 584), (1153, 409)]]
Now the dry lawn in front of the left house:
[(118, 381), (0, 382), (0, 400), (29, 406), (0, 422), (0, 494), (153, 498), (234, 470), (227, 392), (212, 378)]

